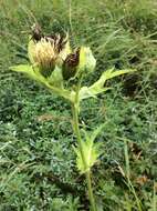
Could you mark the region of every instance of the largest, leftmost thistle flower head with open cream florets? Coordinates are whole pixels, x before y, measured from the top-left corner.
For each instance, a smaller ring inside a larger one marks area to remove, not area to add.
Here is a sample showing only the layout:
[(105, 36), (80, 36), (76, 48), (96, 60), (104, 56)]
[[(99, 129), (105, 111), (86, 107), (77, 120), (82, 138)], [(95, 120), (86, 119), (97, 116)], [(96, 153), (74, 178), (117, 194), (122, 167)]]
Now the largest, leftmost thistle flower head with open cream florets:
[(30, 39), (29, 58), (32, 64), (39, 67), (44, 77), (50, 77), (55, 66), (61, 66), (70, 53), (67, 36), (43, 36), (39, 30)]

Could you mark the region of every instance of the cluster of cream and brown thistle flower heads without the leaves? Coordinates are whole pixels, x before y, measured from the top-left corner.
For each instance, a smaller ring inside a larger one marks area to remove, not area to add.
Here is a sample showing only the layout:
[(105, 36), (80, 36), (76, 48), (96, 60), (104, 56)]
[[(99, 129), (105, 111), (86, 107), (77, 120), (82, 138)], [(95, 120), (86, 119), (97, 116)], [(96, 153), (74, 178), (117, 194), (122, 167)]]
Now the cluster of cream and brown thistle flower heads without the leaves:
[(44, 78), (50, 78), (57, 68), (63, 80), (70, 80), (93, 71), (96, 64), (90, 48), (78, 47), (72, 51), (67, 34), (44, 36), (36, 26), (32, 28), (28, 51), (31, 63)]

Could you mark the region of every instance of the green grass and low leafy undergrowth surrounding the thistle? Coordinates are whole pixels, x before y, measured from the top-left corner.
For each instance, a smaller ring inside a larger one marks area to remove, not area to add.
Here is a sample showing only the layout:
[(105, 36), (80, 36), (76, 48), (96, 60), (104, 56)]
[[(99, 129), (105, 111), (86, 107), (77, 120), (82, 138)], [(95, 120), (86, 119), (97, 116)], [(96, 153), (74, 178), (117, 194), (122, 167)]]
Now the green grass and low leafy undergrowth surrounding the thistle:
[(73, 48), (97, 60), (88, 86), (115, 67), (137, 69), (107, 82), (114, 89), (81, 103), (80, 128), (101, 123), (102, 155), (93, 167), (98, 211), (157, 210), (156, 0), (2, 0), (0, 2), (0, 210), (90, 208), (75, 168), (71, 105), (9, 70), (28, 63), (34, 22), (48, 33), (69, 31)]

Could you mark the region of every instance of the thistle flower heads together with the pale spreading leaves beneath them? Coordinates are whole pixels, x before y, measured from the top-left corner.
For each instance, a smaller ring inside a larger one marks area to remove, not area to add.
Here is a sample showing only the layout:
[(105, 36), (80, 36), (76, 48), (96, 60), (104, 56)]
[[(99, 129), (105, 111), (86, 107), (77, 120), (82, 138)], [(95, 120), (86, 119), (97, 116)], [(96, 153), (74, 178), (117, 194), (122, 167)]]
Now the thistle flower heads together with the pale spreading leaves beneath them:
[[(95, 97), (107, 91), (104, 88), (106, 80), (118, 77), (135, 70), (116, 70), (114, 68), (105, 70), (100, 79), (90, 87), (78, 87), (82, 77), (87, 77), (95, 69), (96, 60), (88, 47), (78, 47), (72, 50), (69, 36), (50, 34), (45, 36), (40, 28), (33, 27), (29, 39), (28, 56), (29, 64), (10, 67), (11, 70), (28, 74), (31, 79), (44, 84), (54, 93), (75, 102)], [(74, 86), (70, 82), (73, 79)]]

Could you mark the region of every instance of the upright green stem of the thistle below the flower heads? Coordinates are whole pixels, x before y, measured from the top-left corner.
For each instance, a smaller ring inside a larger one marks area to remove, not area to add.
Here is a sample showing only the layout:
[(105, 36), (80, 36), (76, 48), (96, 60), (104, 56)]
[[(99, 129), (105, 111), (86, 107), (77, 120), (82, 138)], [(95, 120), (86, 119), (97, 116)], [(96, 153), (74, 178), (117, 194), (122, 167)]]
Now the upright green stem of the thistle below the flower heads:
[[(77, 102), (77, 100), (75, 101), (75, 103), (72, 104), (72, 111), (73, 111), (73, 129), (74, 129), (74, 132), (77, 138), (78, 149), (81, 152), (81, 157), (82, 157), (84, 167), (85, 167), (85, 169), (87, 169), (87, 163), (86, 163), (85, 154), (83, 151), (82, 138), (81, 138), (80, 127), (78, 127), (78, 102)], [(96, 209), (96, 204), (95, 204), (95, 200), (94, 200), (94, 195), (93, 195), (90, 170), (87, 170), (85, 172), (85, 177), (86, 177), (86, 182), (87, 182), (87, 191), (88, 191), (88, 199), (90, 199), (90, 203), (91, 203), (91, 211), (96, 211), (97, 209)]]

